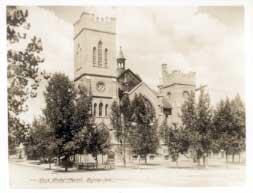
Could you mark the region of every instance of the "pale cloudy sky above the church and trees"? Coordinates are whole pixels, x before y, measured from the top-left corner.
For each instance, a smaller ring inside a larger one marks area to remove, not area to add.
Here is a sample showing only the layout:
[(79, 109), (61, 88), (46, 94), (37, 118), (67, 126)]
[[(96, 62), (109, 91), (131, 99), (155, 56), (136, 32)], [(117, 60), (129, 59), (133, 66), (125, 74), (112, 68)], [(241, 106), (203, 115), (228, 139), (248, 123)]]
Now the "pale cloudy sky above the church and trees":
[[(244, 98), (244, 10), (237, 6), (203, 7), (26, 7), (31, 29), (43, 42), (47, 72), (74, 76), (73, 23), (83, 11), (117, 19), (117, 48), (127, 68), (156, 89), (161, 64), (168, 71), (196, 72), (197, 86), (207, 85), (213, 104), (239, 93)], [(29, 101), (31, 121), (44, 108), (42, 82)]]

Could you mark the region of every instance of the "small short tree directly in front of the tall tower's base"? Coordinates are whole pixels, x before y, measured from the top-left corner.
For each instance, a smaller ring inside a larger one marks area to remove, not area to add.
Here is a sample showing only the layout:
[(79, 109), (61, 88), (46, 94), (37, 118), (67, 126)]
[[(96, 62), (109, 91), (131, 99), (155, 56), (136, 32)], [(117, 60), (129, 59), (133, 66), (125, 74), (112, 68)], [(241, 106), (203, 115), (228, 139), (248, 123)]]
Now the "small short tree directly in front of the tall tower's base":
[(88, 129), (86, 153), (91, 154), (98, 166), (98, 155), (106, 154), (110, 149), (110, 132), (104, 123)]

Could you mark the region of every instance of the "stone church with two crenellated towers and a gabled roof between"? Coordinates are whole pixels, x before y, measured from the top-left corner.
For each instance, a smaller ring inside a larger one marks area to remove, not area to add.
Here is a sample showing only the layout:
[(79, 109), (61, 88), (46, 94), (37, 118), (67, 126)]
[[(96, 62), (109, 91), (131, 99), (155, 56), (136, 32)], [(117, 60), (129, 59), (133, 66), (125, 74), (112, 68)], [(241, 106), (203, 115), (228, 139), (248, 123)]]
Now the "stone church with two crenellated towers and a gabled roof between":
[[(120, 48), (116, 56), (116, 18), (99, 18), (83, 12), (74, 24), (75, 85), (83, 85), (92, 94), (92, 113), (97, 124), (112, 130), (110, 111), (122, 93), (130, 100), (141, 93), (155, 109), (158, 123), (180, 123), (180, 108), (191, 91), (195, 91), (195, 73), (167, 71), (162, 64), (162, 81), (158, 90), (150, 88), (140, 76), (126, 68)], [(112, 135), (112, 138), (114, 136)], [(113, 140), (115, 141), (115, 139)]]

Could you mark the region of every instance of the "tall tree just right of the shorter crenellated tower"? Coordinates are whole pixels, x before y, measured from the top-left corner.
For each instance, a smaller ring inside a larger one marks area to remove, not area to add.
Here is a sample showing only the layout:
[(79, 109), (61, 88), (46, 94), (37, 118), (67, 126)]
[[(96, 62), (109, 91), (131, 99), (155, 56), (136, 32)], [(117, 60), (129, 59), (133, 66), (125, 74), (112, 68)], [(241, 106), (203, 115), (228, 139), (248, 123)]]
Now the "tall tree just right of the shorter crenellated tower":
[(200, 90), (198, 103), (195, 102), (195, 94), (191, 92), (188, 100), (182, 106), (182, 123), (189, 140), (189, 151), (194, 160), (206, 165), (206, 157), (212, 149), (212, 109), (209, 95)]

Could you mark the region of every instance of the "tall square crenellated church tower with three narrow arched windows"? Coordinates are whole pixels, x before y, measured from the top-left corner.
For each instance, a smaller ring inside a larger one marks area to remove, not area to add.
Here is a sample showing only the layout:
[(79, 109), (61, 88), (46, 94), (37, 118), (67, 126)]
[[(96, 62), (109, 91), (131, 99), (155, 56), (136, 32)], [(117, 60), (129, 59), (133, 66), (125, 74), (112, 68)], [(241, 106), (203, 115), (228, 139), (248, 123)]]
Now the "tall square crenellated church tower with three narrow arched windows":
[(111, 104), (118, 100), (116, 19), (83, 12), (74, 23), (75, 86), (92, 94), (96, 122), (110, 124)]

